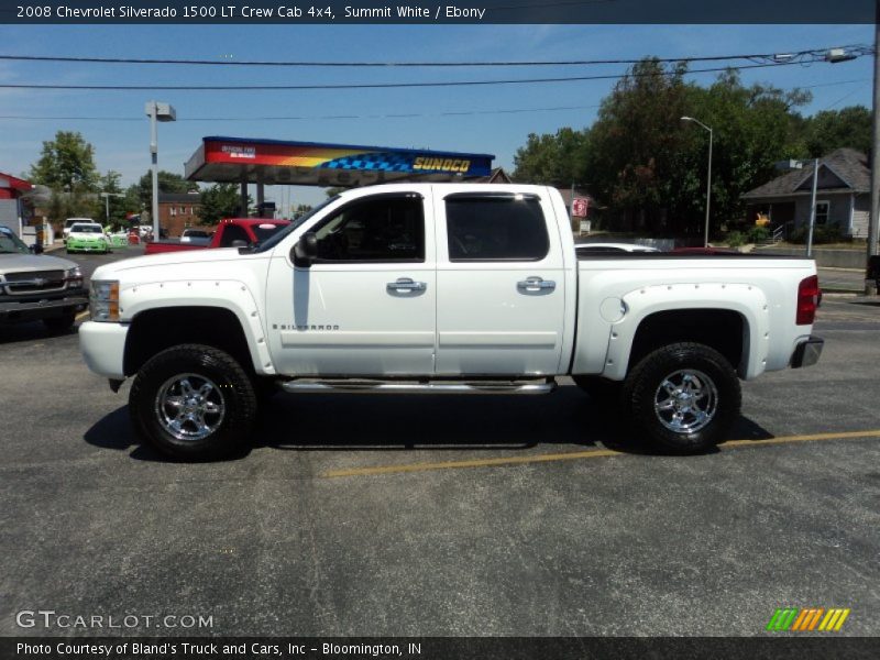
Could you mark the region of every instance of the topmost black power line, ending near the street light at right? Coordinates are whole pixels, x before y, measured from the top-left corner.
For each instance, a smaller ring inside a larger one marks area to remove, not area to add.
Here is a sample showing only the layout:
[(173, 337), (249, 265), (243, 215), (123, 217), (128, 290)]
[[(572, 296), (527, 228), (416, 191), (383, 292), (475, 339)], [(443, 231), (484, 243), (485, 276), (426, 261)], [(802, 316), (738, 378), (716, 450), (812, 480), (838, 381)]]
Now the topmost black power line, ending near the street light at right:
[[(844, 48), (856, 56), (870, 55), (871, 46), (850, 44), (835, 46)], [(780, 53), (752, 53), (737, 55), (703, 55), (692, 57), (652, 57), (661, 63), (724, 62), (733, 59), (763, 61), (785, 64), (792, 61), (818, 62), (825, 57), (829, 48), (809, 48), (805, 51)], [(642, 59), (558, 59), (558, 61), (493, 61), (493, 62), (307, 62), (307, 61), (270, 61), (270, 59), (158, 59), (134, 57), (73, 57), (61, 55), (0, 55), (0, 61), (13, 62), (66, 62), (74, 64), (133, 64), (133, 65), (180, 65), (180, 66), (282, 66), (282, 67), (504, 67), (504, 66), (587, 66), (606, 64), (638, 64)]]

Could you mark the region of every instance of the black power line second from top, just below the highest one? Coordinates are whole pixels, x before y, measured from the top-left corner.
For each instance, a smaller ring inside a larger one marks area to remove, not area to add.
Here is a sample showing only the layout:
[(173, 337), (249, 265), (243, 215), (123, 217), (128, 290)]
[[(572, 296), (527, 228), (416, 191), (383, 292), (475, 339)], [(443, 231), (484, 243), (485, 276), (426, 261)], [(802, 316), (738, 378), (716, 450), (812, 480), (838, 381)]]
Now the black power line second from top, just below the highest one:
[[(800, 62), (779, 62), (766, 64), (747, 64), (683, 72), (684, 75), (708, 74), (727, 70), (746, 70), (756, 68), (774, 68), (781, 66), (804, 66)], [(322, 89), (392, 89), (419, 87), (476, 87), (492, 85), (534, 85), (544, 82), (575, 82), (584, 80), (619, 80), (623, 78), (642, 78), (653, 76), (674, 76), (676, 72), (645, 72), (628, 74), (608, 74), (602, 76), (569, 76), (556, 78), (509, 78), (496, 80), (444, 80), (436, 82), (342, 82), (322, 85), (57, 85), (57, 84), (15, 84), (2, 82), (0, 89), (66, 89), (87, 91), (306, 91)]]

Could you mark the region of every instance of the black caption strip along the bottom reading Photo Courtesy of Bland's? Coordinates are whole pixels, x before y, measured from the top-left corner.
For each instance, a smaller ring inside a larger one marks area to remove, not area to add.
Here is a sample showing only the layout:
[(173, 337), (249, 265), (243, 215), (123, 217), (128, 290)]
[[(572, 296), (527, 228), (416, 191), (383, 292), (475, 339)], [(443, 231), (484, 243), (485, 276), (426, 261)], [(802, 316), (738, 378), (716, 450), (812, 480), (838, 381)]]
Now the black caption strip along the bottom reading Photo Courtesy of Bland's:
[[(21, 646), (25, 645), (25, 646)], [(185, 646), (190, 645), (190, 646)], [(44, 651), (34, 650), (44, 647)], [(111, 648), (110, 648), (111, 647)], [(226, 648), (224, 647), (230, 647)], [(234, 647), (231, 648), (231, 647)], [(89, 648), (94, 651), (88, 650)], [(86, 649), (77, 652), (78, 649)], [(109, 653), (108, 653), (109, 649)], [(880, 638), (838, 634), (728, 637), (4, 637), (0, 658), (15, 660), (811, 660), (878, 658)]]

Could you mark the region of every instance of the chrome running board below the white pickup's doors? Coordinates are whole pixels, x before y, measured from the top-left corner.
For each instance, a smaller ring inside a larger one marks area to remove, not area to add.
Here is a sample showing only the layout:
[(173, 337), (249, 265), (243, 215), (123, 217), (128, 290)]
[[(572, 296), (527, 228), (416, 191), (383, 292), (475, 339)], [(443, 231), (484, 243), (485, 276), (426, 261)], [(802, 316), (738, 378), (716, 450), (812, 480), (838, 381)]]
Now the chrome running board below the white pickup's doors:
[(307, 394), (549, 394), (556, 381), (354, 381), (296, 380), (280, 384), (284, 392)]

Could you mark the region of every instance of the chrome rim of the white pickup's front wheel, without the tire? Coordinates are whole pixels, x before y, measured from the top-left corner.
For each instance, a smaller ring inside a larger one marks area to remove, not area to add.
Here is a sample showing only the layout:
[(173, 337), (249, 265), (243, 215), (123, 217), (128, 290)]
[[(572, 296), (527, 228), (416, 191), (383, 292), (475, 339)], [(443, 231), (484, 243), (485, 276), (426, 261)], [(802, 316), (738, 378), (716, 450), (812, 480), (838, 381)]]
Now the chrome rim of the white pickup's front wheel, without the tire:
[(220, 388), (198, 374), (177, 374), (158, 388), (155, 402), (160, 425), (178, 440), (197, 441), (220, 428), (226, 402)]

